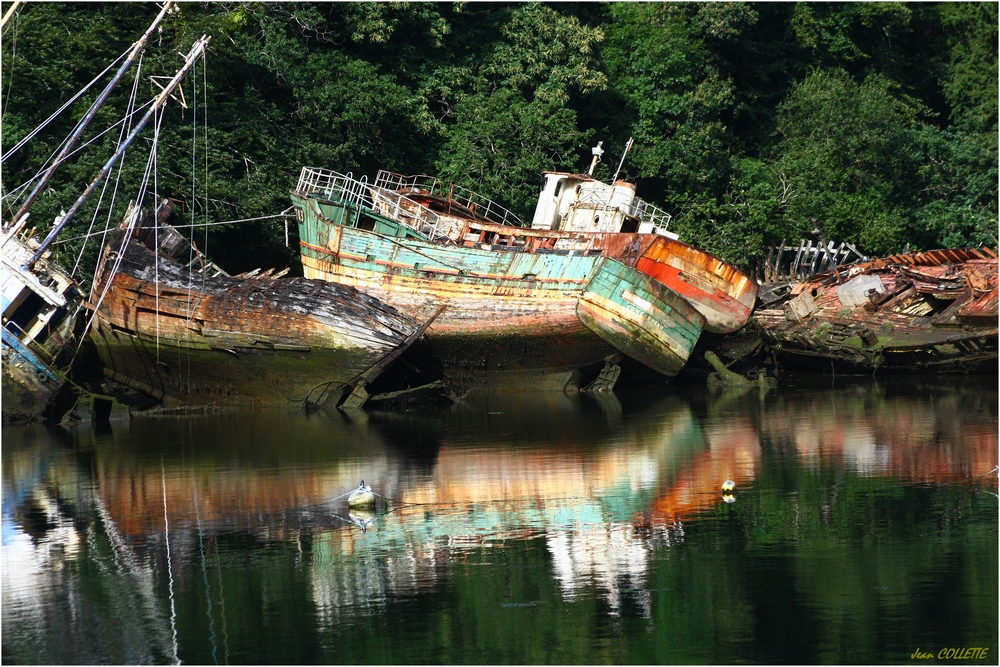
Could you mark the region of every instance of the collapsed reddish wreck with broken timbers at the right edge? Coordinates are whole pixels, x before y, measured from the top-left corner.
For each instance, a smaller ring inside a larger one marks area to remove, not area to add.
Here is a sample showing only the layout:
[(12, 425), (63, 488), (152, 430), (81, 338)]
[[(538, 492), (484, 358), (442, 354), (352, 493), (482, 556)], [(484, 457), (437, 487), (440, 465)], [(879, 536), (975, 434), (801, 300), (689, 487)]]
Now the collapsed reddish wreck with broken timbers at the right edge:
[(771, 302), (754, 318), (789, 367), (997, 372), (996, 249), (892, 255), (767, 286), (761, 296)]

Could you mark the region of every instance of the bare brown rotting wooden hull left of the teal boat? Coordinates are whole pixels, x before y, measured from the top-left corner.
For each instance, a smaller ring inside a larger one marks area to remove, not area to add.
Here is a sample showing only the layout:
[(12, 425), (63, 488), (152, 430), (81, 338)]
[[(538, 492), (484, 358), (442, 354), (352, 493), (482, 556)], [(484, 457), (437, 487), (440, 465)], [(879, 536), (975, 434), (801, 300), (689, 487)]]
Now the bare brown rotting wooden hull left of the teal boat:
[(154, 254), (151, 247), (174, 256), (187, 247), (162, 223), (170, 208), (160, 209), (158, 234), (129, 229), (134, 210), (112, 232), (90, 300), (105, 375), (165, 408), (309, 408), (363, 398), (364, 386), (426, 328), (349, 287), (207, 276)]

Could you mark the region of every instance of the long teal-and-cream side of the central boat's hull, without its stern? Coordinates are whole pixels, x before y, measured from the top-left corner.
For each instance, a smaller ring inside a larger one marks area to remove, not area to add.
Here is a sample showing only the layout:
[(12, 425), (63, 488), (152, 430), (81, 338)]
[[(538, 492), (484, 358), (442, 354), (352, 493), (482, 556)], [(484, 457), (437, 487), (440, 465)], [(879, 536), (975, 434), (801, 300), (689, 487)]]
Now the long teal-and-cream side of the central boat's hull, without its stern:
[(303, 233), (304, 274), (356, 287), (418, 320), (446, 306), (427, 336), (459, 387), (565, 389), (616, 352), (576, 314), (599, 256), (439, 246), (342, 226), (329, 231), (323, 246)]

